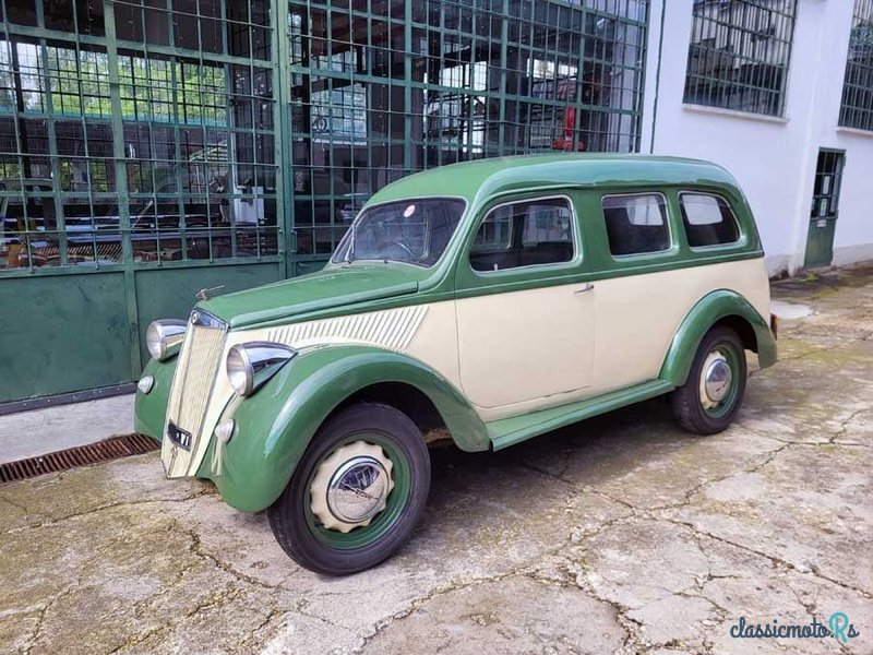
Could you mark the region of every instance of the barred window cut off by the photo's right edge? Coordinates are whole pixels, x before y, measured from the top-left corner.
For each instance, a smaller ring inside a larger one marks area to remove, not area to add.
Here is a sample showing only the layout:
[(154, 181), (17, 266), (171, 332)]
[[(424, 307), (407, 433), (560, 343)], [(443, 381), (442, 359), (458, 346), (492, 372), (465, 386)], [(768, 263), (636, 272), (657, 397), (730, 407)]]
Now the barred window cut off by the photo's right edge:
[(873, 0), (854, 0), (839, 124), (873, 130)]

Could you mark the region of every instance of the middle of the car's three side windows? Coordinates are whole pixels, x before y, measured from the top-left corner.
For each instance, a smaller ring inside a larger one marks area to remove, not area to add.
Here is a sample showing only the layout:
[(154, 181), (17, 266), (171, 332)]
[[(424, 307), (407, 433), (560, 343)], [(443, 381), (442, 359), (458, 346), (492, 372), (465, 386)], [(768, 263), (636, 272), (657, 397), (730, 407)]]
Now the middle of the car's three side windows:
[(661, 252), (670, 248), (667, 206), (660, 193), (603, 196), (603, 219), (613, 255)]

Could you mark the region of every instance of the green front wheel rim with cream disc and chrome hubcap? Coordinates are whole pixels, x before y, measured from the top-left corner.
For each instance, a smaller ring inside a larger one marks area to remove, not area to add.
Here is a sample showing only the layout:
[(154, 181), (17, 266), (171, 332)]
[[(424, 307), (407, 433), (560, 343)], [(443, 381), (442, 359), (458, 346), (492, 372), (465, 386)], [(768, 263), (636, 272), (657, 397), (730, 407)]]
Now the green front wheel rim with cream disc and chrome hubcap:
[(348, 437), (321, 458), (307, 481), (309, 529), (339, 550), (375, 543), (400, 519), (410, 474), (408, 457), (387, 434)]

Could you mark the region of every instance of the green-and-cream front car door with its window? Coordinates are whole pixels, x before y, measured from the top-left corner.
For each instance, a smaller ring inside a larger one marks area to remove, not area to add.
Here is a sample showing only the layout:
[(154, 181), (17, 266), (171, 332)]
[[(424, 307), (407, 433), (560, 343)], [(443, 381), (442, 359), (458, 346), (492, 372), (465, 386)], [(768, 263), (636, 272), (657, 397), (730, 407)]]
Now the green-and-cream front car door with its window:
[(558, 405), (590, 384), (582, 243), (567, 195), (502, 200), (479, 214), (456, 267), (458, 364), (467, 397), (498, 409), (490, 417)]

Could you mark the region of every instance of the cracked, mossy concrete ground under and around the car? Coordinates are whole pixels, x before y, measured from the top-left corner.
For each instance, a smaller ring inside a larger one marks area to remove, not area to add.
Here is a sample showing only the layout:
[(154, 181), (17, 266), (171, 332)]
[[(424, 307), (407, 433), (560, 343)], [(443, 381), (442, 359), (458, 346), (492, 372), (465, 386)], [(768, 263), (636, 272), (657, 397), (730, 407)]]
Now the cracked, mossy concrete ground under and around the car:
[[(814, 313), (782, 322), (728, 431), (655, 401), (435, 451), (412, 539), (351, 577), (155, 454), (0, 487), (0, 651), (873, 653), (873, 267), (774, 297)], [(730, 635), (837, 611), (847, 644)]]

